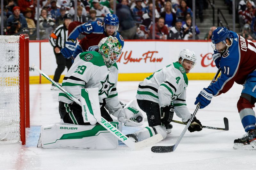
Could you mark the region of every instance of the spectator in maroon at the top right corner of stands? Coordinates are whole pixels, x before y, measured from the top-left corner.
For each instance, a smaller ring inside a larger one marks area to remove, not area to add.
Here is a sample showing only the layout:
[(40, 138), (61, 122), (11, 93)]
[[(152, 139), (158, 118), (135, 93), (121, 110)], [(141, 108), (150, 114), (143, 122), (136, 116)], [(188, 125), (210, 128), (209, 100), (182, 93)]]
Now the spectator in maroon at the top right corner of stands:
[(243, 12), (244, 24), (252, 24), (252, 17), (255, 16), (255, 4), (254, 2), (247, 0), (246, 9)]

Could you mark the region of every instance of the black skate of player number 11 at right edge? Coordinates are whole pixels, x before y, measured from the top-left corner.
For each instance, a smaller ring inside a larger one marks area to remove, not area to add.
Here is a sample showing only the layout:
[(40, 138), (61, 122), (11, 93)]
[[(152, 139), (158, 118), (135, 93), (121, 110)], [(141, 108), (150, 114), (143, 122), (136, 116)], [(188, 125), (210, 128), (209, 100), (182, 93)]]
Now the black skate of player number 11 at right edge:
[(233, 148), (256, 150), (256, 129), (251, 129), (242, 138), (235, 139)]

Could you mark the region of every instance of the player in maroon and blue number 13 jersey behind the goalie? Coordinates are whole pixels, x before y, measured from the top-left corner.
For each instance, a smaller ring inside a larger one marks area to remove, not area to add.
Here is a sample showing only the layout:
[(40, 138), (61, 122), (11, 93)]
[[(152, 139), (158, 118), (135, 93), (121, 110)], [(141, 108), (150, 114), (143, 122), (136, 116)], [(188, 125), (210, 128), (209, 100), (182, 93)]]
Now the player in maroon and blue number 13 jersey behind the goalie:
[[(100, 21), (94, 21), (92, 23), (74, 21), (68, 27), (68, 41), (66, 41), (61, 53), (66, 58), (72, 57), (74, 59), (81, 52), (98, 50), (100, 40), (109, 35), (116, 37), (122, 47), (124, 47), (124, 39), (117, 32), (118, 26), (119, 20), (115, 14), (108, 14), (104, 18), (104, 24)], [(86, 35), (86, 37), (76, 46), (74, 41), (80, 33)]]

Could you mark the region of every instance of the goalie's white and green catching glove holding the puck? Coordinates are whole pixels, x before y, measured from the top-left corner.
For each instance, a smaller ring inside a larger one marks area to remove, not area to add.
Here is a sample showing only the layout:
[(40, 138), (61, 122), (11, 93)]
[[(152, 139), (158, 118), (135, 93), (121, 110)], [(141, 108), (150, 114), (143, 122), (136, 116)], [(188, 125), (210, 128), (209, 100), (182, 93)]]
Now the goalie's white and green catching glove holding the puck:
[(118, 121), (123, 122), (124, 126), (136, 127), (141, 126), (144, 122), (143, 115), (137, 109), (134, 100), (126, 104), (123, 109), (114, 113), (114, 116), (117, 117)]

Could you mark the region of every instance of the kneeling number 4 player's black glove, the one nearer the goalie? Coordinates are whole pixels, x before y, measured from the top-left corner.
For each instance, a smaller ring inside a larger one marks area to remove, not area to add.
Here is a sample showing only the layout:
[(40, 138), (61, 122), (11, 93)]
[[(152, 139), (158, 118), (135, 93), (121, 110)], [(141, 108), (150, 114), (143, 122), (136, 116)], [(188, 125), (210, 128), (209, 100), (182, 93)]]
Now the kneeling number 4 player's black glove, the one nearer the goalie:
[(167, 125), (172, 122), (173, 112), (174, 106), (172, 105), (161, 107), (161, 123)]

